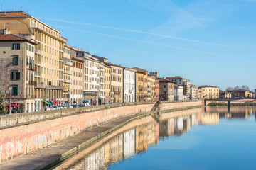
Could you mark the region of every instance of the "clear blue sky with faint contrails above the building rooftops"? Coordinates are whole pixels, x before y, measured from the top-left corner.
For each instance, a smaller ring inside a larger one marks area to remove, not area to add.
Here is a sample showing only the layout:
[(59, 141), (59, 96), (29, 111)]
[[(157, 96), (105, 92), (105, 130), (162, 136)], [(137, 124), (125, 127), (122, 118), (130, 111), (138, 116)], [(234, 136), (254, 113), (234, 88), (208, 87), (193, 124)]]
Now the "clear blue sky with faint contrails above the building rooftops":
[(197, 86), (256, 88), (256, 0), (0, 0), (68, 45)]

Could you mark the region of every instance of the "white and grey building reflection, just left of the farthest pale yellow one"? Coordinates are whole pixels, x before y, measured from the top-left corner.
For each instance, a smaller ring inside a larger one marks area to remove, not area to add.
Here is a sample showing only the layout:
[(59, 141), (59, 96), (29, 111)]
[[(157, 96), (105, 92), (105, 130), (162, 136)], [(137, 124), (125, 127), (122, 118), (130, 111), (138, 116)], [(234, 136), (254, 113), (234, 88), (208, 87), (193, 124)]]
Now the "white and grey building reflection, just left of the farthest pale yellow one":
[(174, 120), (174, 135), (183, 135), (183, 133), (190, 131), (191, 115), (181, 116)]

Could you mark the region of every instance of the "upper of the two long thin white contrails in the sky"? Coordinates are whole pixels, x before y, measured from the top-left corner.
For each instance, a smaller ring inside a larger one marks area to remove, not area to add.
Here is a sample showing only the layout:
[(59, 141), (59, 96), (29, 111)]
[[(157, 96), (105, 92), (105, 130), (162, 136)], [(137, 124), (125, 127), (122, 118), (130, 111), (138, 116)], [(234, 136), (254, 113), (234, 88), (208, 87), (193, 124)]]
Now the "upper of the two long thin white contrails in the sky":
[(96, 25), (96, 24), (92, 24), (92, 23), (80, 23), (80, 22), (75, 22), (75, 21), (65, 21), (65, 20), (60, 20), (60, 19), (55, 19), (55, 18), (43, 18), (43, 19), (46, 19), (46, 20), (49, 20), (49, 21), (58, 21), (58, 22), (62, 22), (62, 23), (73, 23), (73, 24), (84, 25), (84, 26), (92, 26), (92, 27), (97, 27), (97, 28), (107, 28), (107, 29), (111, 29), (111, 30), (121, 30), (121, 31), (125, 31), (125, 32), (129, 32), (129, 33), (140, 33), (140, 34), (145, 34), (145, 35), (153, 35), (153, 36), (161, 37), (161, 38), (171, 38), (171, 39), (175, 39), (175, 40), (183, 40), (183, 41), (187, 41), (187, 42), (196, 42), (196, 43), (205, 44), (205, 45), (230, 47), (228, 45), (220, 45), (220, 44), (215, 44), (215, 43), (205, 42), (205, 41), (200, 41), (200, 40), (190, 40), (190, 39), (186, 39), (186, 38), (178, 38), (178, 37), (174, 37), (174, 36), (171, 36), (171, 35), (162, 35), (162, 34), (150, 33), (150, 32), (146, 32), (146, 31), (142, 31), (142, 30), (132, 30), (132, 29), (127, 29), (127, 28), (118, 28), (118, 27), (112, 27), (112, 26), (101, 26), (101, 25)]

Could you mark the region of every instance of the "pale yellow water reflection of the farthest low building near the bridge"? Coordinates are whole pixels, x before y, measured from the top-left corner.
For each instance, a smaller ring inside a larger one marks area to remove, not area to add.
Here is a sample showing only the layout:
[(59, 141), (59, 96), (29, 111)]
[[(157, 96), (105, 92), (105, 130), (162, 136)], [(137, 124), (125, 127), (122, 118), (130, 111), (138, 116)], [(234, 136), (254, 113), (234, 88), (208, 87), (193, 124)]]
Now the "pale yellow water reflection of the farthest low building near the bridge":
[(219, 120), (218, 113), (201, 113), (198, 115), (198, 122), (202, 125), (218, 124)]

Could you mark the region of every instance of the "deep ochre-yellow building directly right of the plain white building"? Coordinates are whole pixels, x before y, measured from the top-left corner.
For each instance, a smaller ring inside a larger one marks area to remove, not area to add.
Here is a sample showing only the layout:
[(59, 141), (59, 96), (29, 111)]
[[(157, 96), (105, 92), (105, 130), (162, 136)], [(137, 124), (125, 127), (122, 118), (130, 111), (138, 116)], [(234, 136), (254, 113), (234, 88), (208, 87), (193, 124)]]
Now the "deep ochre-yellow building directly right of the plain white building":
[(139, 77), (141, 77), (141, 74), (142, 74), (142, 77), (141, 77), (142, 79), (140, 79), (140, 80), (142, 80), (142, 83), (143, 83), (142, 91), (140, 91), (140, 92), (142, 92), (142, 94), (141, 93), (139, 94), (139, 96), (141, 96), (142, 98), (139, 98), (139, 96), (138, 96), (138, 99), (139, 99), (139, 101), (147, 101), (148, 100), (148, 85), (147, 85), (148, 84), (148, 72), (145, 69), (140, 69), (138, 67), (133, 67), (132, 69), (135, 69), (135, 70), (137, 70), (137, 72), (140, 73), (140, 74), (136, 74)]

